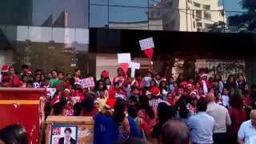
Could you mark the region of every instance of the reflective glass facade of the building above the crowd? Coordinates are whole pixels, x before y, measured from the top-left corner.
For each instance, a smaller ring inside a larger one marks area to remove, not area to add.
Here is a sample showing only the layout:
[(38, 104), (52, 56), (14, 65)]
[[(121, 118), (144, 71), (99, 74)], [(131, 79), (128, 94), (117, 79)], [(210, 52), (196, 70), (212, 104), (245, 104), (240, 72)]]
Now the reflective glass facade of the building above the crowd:
[(2, 0), (0, 65), (94, 74), (92, 28), (255, 33), (256, 12), (242, 1)]

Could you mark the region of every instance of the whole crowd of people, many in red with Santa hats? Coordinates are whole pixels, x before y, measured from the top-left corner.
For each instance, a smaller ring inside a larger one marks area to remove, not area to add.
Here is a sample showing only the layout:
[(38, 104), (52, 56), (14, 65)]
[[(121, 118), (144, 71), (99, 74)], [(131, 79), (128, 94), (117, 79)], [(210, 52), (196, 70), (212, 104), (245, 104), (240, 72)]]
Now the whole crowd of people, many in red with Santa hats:
[(95, 144), (256, 142), (256, 85), (242, 74), (173, 78), (149, 70), (130, 78), (118, 68), (112, 81), (107, 70), (94, 86), (83, 88), (81, 81), (79, 69), (43, 74), (26, 65), (20, 74), (4, 65), (0, 75), (0, 87), (55, 88), (46, 95), (46, 116), (92, 116)]

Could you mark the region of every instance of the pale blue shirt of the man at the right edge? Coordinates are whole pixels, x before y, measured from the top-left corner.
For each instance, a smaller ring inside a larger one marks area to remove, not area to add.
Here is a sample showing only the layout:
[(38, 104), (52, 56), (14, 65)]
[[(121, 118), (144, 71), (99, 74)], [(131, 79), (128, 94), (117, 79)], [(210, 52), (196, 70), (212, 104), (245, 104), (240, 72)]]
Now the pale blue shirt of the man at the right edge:
[(245, 144), (255, 144), (256, 142), (256, 129), (251, 125), (251, 121), (242, 122), (238, 130), (238, 138), (243, 140)]

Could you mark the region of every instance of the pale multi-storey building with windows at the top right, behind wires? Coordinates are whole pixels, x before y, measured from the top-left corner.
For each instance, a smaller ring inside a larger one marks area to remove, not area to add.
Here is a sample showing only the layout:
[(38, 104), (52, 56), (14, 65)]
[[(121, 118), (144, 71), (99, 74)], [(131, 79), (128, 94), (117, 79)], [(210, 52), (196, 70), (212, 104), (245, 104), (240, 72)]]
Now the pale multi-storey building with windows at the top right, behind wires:
[(162, 0), (150, 8), (150, 18), (162, 18), (163, 30), (208, 31), (216, 22), (226, 23), (218, 0)]

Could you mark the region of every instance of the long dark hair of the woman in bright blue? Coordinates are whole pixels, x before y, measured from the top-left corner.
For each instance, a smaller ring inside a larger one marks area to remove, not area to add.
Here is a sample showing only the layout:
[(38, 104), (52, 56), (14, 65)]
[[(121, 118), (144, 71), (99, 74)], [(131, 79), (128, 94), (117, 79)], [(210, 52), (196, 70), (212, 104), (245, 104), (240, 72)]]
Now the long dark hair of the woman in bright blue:
[(122, 99), (117, 99), (114, 105), (114, 120), (116, 122), (122, 122), (126, 118), (126, 114), (124, 113), (126, 109), (126, 101)]

